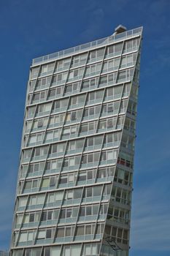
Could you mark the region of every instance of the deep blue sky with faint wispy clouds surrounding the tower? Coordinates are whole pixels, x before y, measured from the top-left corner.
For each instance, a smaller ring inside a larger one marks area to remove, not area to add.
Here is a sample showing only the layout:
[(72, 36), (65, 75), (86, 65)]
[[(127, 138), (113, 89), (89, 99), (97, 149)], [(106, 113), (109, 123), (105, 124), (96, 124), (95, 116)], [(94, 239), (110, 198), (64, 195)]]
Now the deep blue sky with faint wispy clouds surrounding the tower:
[(130, 256), (170, 253), (170, 1), (0, 1), (0, 249), (9, 247), (31, 59), (144, 26)]

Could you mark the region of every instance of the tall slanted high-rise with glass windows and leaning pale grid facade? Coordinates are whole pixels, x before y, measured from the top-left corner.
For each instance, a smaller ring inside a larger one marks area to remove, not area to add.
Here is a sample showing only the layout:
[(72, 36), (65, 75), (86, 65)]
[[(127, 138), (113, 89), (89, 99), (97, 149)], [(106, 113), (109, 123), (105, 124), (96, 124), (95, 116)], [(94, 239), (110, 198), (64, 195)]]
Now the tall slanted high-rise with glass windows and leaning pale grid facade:
[(33, 60), (10, 255), (128, 256), (141, 39)]

